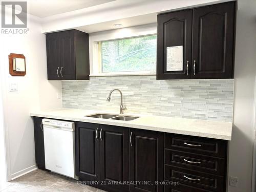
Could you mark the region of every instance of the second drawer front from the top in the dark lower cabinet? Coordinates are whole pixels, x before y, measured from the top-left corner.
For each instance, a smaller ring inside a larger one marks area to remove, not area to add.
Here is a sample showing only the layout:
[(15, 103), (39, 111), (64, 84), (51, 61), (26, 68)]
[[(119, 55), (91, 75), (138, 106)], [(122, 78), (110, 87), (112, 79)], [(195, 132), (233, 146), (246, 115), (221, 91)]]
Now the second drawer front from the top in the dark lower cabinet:
[(165, 164), (225, 176), (225, 159), (165, 149)]

